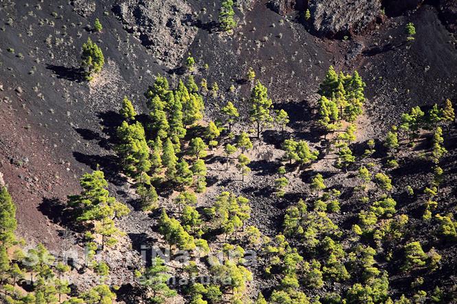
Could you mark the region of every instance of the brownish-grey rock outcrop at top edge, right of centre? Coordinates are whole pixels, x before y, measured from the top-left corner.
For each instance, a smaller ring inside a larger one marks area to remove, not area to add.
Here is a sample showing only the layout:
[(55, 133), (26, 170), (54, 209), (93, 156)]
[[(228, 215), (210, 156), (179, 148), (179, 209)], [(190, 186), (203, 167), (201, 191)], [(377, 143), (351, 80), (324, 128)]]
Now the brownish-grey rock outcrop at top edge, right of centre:
[(325, 36), (357, 34), (376, 21), (377, 0), (309, 0), (314, 29)]

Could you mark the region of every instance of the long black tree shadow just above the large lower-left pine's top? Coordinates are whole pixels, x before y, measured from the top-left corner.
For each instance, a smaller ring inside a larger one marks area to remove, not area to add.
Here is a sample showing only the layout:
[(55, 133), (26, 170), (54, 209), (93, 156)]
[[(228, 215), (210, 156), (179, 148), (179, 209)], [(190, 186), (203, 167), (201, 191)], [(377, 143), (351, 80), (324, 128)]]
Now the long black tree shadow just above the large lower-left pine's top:
[(87, 155), (81, 152), (73, 152), (73, 157), (78, 162), (89, 166), (92, 170), (102, 170), (105, 177), (110, 183), (115, 186), (123, 186), (127, 179), (121, 177), (118, 173), (119, 168), (119, 157), (115, 155)]

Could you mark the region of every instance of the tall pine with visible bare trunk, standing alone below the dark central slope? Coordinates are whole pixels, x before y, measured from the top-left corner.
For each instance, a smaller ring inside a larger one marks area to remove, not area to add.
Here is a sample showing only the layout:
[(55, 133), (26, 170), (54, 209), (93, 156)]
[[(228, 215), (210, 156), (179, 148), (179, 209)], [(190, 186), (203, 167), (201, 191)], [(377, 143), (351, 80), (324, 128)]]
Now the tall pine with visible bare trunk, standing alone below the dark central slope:
[(267, 91), (267, 88), (262, 86), (260, 81), (257, 81), (257, 84), (250, 94), (250, 120), (257, 124), (257, 138), (260, 137), (263, 127), (273, 120), (270, 114), (272, 101), (271, 99), (268, 99)]

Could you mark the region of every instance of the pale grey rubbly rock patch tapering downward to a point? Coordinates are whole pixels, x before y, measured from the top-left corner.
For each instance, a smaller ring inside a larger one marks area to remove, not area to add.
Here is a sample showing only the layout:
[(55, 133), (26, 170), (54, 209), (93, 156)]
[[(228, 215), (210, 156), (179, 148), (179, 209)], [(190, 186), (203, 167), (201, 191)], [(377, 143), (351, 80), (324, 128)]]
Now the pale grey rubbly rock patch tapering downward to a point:
[(118, 1), (114, 12), (124, 26), (154, 51), (159, 63), (175, 67), (197, 33), (192, 10), (183, 0)]

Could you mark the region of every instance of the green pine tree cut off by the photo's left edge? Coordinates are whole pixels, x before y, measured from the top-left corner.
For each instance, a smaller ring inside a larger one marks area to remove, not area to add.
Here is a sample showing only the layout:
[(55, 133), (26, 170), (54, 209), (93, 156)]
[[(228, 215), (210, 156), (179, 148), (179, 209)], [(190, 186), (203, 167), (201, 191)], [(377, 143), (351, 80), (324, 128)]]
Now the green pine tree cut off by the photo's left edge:
[(16, 230), (16, 205), (5, 186), (0, 186), (0, 246), (8, 247), (14, 240)]

